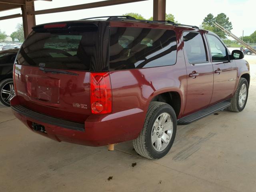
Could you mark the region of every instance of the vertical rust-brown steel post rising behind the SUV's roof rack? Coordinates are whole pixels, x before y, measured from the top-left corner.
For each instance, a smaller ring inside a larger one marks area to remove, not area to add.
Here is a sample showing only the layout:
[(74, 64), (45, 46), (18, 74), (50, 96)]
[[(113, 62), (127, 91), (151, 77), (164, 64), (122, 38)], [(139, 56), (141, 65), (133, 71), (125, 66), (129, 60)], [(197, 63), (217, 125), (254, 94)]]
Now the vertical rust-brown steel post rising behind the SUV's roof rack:
[(165, 20), (166, 0), (154, 0), (153, 20)]

